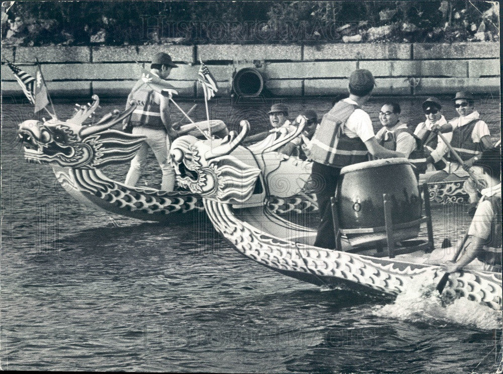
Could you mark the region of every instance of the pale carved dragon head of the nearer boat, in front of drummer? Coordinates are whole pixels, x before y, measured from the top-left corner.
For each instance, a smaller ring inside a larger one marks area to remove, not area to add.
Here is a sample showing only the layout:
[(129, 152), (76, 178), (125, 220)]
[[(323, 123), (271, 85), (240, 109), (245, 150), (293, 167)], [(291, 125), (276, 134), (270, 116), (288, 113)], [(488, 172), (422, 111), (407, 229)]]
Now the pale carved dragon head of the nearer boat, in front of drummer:
[[(223, 203), (262, 204), (266, 190), (275, 196), (292, 196), (304, 186), (311, 164), (272, 151), (298, 136), (304, 123), (301, 119), (298, 127), (275, 132), (249, 147), (240, 145), (249, 130), (247, 121), (240, 122), (239, 134), (231, 131), (223, 139), (181, 136), (170, 151), (177, 182), (207, 199)], [(279, 191), (280, 188), (284, 191)]]

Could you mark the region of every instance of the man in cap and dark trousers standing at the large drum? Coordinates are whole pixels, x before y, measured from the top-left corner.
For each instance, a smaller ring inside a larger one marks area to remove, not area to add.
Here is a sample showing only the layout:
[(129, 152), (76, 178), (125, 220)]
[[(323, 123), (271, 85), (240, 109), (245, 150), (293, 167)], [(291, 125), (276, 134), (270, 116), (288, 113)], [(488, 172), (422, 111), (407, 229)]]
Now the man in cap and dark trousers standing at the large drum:
[(349, 79), (349, 98), (337, 102), (323, 116), (309, 147), (313, 160), (311, 178), (319, 186), (316, 199), (321, 223), (316, 247), (336, 247), (330, 198), (335, 195), (341, 169), (369, 160), (369, 153), (378, 158), (404, 157), (379, 145), (369, 115), (361, 109), (372, 95), (375, 80), (366, 69), (357, 69)]

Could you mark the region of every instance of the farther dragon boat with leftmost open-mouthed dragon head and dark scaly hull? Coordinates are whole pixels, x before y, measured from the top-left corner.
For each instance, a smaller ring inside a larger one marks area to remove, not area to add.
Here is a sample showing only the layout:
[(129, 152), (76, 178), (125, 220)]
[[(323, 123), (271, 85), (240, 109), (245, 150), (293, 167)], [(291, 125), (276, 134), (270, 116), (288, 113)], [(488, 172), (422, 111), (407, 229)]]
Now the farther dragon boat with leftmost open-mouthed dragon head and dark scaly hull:
[[(77, 201), (107, 212), (149, 221), (180, 221), (200, 214), (204, 205), (200, 195), (187, 190), (161, 191), (155, 188), (131, 187), (107, 177), (103, 168), (130, 161), (144, 137), (112, 127), (120, 124), (135, 109), (106, 114), (93, 125), (85, 121), (99, 106), (99, 97), (79, 106), (66, 121), (50, 119), (44, 123), (27, 120), (19, 125), (18, 135), (28, 162), (49, 164), (62, 187)], [(215, 135), (228, 134), (221, 120), (191, 123), (181, 127), (180, 134), (203, 137), (208, 125)], [(268, 206), (278, 213), (301, 213), (317, 209), (315, 197), (292, 196), (277, 189)]]

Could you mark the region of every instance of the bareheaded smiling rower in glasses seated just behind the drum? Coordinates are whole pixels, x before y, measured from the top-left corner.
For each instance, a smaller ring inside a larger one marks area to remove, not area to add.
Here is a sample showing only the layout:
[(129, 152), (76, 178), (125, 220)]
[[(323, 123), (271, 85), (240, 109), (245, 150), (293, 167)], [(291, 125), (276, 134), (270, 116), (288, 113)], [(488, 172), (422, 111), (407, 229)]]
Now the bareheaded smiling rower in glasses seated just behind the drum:
[(377, 142), (390, 149), (402, 153), (415, 166), (416, 175), (426, 171), (426, 158), (423, 142), (407, 124), (400, 122), (400, 105), (396, 102), (385, 103), (379, 112), (379, 120), (383, 127), (377, 131)]

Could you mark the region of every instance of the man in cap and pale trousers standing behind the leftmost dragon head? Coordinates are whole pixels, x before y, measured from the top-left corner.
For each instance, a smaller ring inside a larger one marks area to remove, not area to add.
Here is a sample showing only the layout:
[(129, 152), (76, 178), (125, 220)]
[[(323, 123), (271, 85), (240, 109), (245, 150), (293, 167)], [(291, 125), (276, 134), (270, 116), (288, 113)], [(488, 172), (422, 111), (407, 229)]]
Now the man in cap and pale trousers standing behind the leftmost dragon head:
[[(151, 148), (162, 171), (161, 190), (173, 191), (175, 187), (175, 170), (168, 159), (171, 146), (170, 136), (177, 135), (171, 121), (169, 105), (171, 93), (165, 95), (164, 91), (156, 87), (157, 83), (163, 83), (161, 80), (165, 80), (174, 67), (177, 65), (173, 63), (169, 54), (164, 52), (154, 54), (150, 72), (147, 74), (153, 77), (140, 78), (128, 96), (128, 103), (133, 100), (138, 104), (130, 119), (132, 133), (146, 138), (136, 156), (131, 160), (124, 182), (127, 186), (135, 186), (138, 182), (146, 166), (148, 148)], [(169, 86), (167, 82), (165, 86)]]

